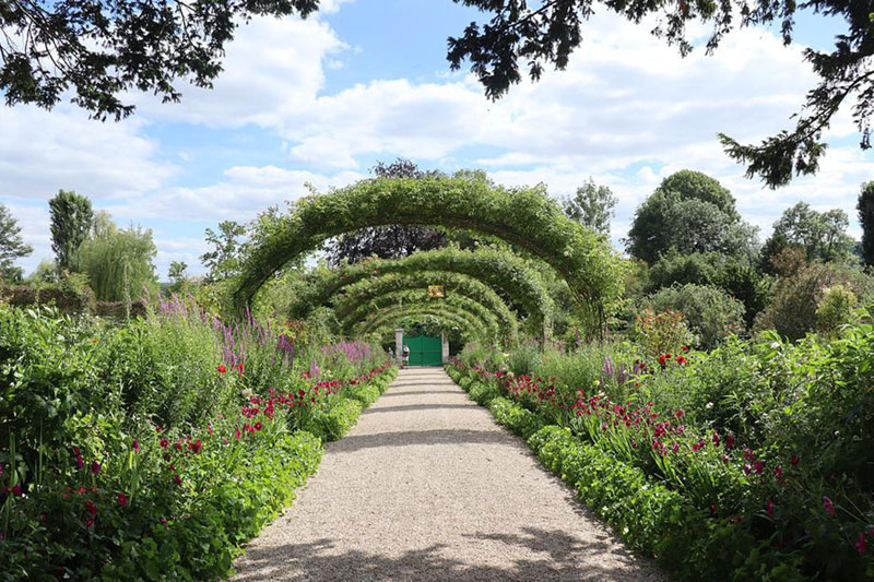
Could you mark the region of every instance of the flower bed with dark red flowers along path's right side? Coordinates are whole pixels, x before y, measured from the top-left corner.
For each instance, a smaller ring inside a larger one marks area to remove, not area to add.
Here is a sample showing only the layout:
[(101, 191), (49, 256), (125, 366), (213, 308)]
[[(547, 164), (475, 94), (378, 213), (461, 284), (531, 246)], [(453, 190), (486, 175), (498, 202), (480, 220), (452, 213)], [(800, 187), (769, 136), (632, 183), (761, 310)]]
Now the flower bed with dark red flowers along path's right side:
[(872, 331), (605, 356), (578, 387), (459, 359), (448, 371), (511, 431), (548, 425), (532, 450), (676, 578), (862, 580), (874, 577)]

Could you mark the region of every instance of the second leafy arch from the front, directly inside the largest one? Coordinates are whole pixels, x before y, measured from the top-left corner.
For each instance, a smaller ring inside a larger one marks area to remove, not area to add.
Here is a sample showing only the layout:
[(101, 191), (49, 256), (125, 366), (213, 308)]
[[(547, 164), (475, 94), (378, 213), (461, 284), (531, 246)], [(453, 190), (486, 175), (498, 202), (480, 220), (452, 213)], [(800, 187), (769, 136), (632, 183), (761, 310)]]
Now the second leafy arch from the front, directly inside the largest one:
[(416, 252), (397, 260), (368, 259), (326, 271), (307, 282), (291, 307), (291, 317), (306, 318), (312, 309), (329, 304), (346, 286), (391, 273), (445, 271), (475, 277), (501, 292), (529, 317), (532, 331), (541, 333), (552, 320), (554, 305), (540, 275), (517, 254), (497, 248), (475, 251), (453, 247)]

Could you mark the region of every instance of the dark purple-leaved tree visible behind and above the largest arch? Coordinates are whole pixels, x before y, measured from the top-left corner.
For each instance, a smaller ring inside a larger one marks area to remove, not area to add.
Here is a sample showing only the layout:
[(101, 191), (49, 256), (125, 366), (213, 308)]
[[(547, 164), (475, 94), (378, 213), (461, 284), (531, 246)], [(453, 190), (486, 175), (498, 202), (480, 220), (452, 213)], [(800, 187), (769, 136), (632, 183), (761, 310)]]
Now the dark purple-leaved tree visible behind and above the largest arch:
[[(391, 164), (377, 162), (371, 168), (377, 178), (423, 178), (425, 176), (440, 176), (438, 170), (424, 171), (409, 159), (399, 157)], [(481, 179), (481, 174), (468, 173), (471, 179)], [(445, 247), (446, 233), (424, 226), (389, 225), (362, 228), (355, 233), (347, 233), (329, 247), (328, 260), (338, 265), (343, 261), (356, 263), (368, 257), (380, 259), (400, 259), (420, 250), (433, 250)]]

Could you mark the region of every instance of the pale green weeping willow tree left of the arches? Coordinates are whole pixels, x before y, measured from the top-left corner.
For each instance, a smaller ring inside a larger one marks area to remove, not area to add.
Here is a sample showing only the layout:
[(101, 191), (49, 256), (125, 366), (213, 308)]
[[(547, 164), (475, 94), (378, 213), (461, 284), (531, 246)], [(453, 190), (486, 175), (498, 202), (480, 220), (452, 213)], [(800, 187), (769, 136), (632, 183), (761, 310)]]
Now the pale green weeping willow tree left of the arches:
[(104, 215), (98, 217), (92, 236), (79, 247), (76, 270), (88, 276), (98, 300), (130, 305), (145, 289), (156, 288), (156, 253), (151, 229), (139, 225), (118, 228)]

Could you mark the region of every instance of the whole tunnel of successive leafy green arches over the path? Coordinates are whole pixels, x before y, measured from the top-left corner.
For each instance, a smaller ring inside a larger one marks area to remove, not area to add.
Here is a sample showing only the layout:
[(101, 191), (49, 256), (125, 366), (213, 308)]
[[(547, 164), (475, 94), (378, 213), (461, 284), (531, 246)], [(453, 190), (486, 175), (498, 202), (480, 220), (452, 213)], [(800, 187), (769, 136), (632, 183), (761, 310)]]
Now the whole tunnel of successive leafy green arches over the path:
[[(495, 237), (507, 248), (445, 248), (399, 260), (368, 260), (321, 274), (290, 314), (330, 308), (344, 333), (387, 334), (400, 321), (428, 321), (459, 337), (510, 345), (520, 318), (528, 333), (547, 334), (553, 299), (531, 261), (567, 285), (579, 320), (600, 333), (605, 306), (622, 293), (618, 257), (594, 231), (568, 218), (541, 189), (506, 189), (481, 178), (373, 179), (299, 200), (252, 240), (234, 292), (238, 311), (286, 264), (327, 239), (361, 228), (418, 225)], [(447, 297), (426, 295), (441, 284)]]

